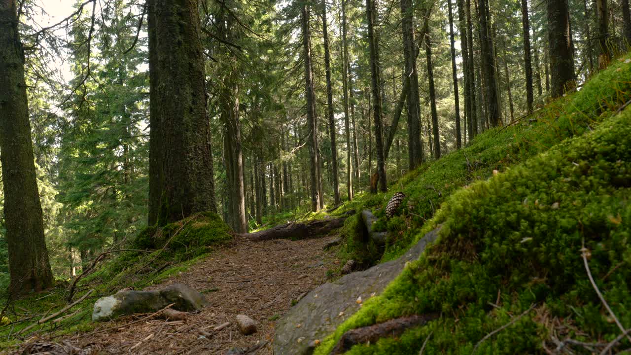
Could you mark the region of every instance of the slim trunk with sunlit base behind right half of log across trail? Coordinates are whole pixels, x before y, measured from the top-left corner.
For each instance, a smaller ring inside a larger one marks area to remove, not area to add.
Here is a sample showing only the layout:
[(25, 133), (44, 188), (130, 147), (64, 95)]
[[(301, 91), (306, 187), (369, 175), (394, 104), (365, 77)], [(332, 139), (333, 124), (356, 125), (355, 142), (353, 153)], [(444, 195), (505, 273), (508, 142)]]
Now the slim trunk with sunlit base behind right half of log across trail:
[(309, 8), (305, 5), (302, 7), (302, 45), (304, 48), (305, 61), (305, 96), (307, 97), (307, 131), (309, 138), (309, 155), (311, 157), (311, 210), (317, 212), (320, 210), (320, 196), (318, 176), (320, 174), (320, 164), (318, 162), (317, 147), (317, 123), (315, 118), (315, 92), (313, 75), (311, 69), (311, 33), (309, 28)]

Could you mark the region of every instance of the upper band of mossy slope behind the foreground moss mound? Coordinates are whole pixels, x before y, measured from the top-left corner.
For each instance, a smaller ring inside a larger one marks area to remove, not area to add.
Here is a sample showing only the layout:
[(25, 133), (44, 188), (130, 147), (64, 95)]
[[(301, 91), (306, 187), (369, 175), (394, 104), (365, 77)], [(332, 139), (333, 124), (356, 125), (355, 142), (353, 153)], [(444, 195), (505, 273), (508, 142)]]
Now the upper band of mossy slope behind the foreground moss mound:
[[(567, 138), (595, 129), (605, 117), (631, 99), (630, 62), (631, 54), (627, 54), (591, 78), (578, 92), (551, 102), (531, 116), (522, 117), (517, 124), (478, 135), (465, 148), (428, 162), (392, 183), (388, 193), (359, 196), (339, 213), (352, 208), (358, 211), (372, 208), (377, 217), (384, 217), (385, 211), (381, 207), (394, 193), (403, 191), (408, 198), (398, 217), (387, 222), (381, 219), (375, 226), (377, 230), (390, 232), (386, 250), (381, 251), (382, 256), (376, 255), (381, 257), (380, 262), (400, 256), (418, 239), (420, 228), (454, 191), (489, 178), (493, 171), (504, 171), (545, 152)], [(353, 232), (345, 235), (353, 236)], [(355, 249), (358, 247), (360, 250)], [(374, 252), (361, 247), (362, 244), (350, 241), (346, 249), (348, 258), (375, 256)], [(370, 255), (365, 255), (367, 252)]]

